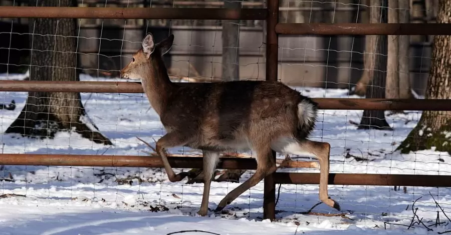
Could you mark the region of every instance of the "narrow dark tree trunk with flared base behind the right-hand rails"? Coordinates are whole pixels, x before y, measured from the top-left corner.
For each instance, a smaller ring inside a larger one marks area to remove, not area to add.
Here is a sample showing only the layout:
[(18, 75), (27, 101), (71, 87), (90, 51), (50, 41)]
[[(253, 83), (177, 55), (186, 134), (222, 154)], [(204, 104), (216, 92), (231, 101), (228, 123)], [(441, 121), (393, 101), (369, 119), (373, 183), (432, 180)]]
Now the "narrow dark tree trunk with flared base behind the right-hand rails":
[[(387, 12), (381, 6), (385, 5), (385, 0), (371, 0), (370, 18), (371, 22), (386, 22)], [(383, 10), (382, 10), (383, 9)], [(387, 36), (376, 35), (376, 46), (374, 54), (374, 66), (372, 69), (373, 77), (370, 86), (367, 89), (367, 98), (384, 98), (385, 97), (385, 72), (387, 68)], [(358, 129), (383, 129), (392, 130), (385, 120), (384, 110), (364, 110)]]

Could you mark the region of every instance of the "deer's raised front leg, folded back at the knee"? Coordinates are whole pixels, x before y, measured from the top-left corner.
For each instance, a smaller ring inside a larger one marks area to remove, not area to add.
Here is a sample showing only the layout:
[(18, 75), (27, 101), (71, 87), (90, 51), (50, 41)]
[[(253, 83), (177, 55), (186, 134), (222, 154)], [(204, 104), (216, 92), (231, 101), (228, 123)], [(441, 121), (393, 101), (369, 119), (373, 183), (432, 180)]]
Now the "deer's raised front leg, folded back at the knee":
[(172, 170), (171, 165), (169, 164), (169, 161), (167, 160), (166, 155), (166, 148), (170, 147), (176, 147), (176, 146), (183, 146), (186, 143), (185, 137), (186, 135), (176, 133), (176, 132), (170, 132), (163, 135), (161, 138), (158, 139), (155, 145), (155, 150), (161, 157), (161, 161), (164, 165), (164, 170), (166, 170), (167, 177), (171, 182), (178, 182), (181, 181), (186, 176), (190, 175), (189, 172), (180, 172), (178, 174), (174, 173), (174, 170)]

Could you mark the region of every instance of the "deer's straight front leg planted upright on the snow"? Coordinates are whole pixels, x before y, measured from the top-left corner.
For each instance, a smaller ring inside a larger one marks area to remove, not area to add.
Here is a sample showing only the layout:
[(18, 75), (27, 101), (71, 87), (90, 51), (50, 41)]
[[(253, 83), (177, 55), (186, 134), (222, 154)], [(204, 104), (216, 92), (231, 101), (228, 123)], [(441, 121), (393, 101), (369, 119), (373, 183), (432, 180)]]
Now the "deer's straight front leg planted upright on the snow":
[(208, 212), (208, 197), (210, 195), (211, 178), (213, 171), (216, 168), (217, 160), (219, 159), (219, 152), (217, 151), (202, 151), (203, 155), (203, 195), (200, 209), (197, 213), (200, 216), (205, 216)]

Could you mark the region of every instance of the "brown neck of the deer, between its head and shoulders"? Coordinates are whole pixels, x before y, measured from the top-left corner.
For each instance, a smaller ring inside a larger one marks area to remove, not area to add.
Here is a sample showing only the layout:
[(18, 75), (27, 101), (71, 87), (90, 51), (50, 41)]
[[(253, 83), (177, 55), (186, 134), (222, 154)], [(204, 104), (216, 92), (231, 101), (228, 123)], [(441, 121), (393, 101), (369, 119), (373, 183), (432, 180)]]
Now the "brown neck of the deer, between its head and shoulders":
[(155, 112), (161, 115), (175, 84), (169, 79), (164, 63), (158, 64), (158, 66), (148, 66), (143, 73), (141, 84), (144, 92)]

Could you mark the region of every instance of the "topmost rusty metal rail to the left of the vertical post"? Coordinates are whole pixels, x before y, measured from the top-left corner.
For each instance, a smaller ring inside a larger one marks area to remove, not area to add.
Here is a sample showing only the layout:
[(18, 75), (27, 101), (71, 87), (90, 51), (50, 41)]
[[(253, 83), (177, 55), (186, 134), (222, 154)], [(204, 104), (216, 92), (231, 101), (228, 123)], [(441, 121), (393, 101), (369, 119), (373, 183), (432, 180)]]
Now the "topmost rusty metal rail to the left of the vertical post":
[(0, 6), (0, 17), (103, 19), (266, 19), (264, 8)]

